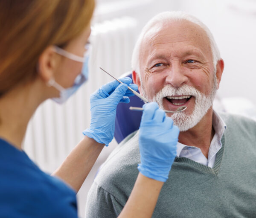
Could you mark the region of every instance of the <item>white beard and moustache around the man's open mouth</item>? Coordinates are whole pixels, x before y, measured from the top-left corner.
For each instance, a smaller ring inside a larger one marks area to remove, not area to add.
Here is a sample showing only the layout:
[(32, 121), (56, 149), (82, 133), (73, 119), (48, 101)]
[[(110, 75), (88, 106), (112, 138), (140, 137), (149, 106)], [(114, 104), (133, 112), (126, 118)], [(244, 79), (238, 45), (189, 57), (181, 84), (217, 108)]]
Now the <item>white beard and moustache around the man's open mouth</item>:
[(207, 113), (209, 108), (212, 106), (216, 90), (217, 78), (216, 74), (214, 74), (212, 91), (208, 96), (204, 95), (194, 87), (188, 85), (174, 88), (170, 84), (163, 87), (163, 89), (161, 89), (153, 97), (153, 99), (148, 99), (148, 97), (145, 95), (145, 91), (143, 90), (143, 88), (142, 93), (143, 96), (145, 96), (145, 98), (147, 98), (150, 102), (157, 102), (161, 109), (165, 109), (163, 108), (163, 98), (166, 96), (194, 96), (195, 107), (191, 115), (187, 115), (185, 110), (179, 113), (173, 113), (170, 116), (173, 119), (174, 125), (176, 125), (180, 129), (180, 131), (187, 131), (197, 125), (198, 122), (200, 122), (204, 115)]

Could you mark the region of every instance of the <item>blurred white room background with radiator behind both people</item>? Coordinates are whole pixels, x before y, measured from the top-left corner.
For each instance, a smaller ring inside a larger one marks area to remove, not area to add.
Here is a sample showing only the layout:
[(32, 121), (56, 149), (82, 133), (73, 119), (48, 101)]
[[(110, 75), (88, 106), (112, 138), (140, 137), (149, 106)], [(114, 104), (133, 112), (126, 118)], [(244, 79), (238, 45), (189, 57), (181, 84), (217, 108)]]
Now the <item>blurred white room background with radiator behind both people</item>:
[[(256, 0), (97, 0), (90, 41), (89, 81), (64, 105), (51, 100), (36, 111), (23, 146), (42, 170), (52, 173), (83, 137), (90, 125), (89, 96), (111, 77), (131, 70), (131, 54), (140, 30), (163, 11), (189, 12), (211, 30), (224, 59), (218, 99), (230, 112), (255, 116)], [(256, 117), (254, 117), (256, 118)], [(79, 215), (84, 217), (87, 192), (99, 166), (116, 147), (105, 147), (79, 191)]]

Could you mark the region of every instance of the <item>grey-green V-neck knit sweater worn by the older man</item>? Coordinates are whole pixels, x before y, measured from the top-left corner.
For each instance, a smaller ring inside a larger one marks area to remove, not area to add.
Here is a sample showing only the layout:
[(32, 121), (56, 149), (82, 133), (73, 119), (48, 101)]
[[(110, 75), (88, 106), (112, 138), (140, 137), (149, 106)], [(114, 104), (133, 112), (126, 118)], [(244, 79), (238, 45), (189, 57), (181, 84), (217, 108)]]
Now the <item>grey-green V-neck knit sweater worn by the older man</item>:
[[(154, 218), (256, 218), (256, 122), (220, 114), (227, 124), (211, 169), (176, 158), (163, 185)], [(128, 136), (111, 154), (88, 194), (87, 218), (117, 217), (138, 175), (138, 134)]]

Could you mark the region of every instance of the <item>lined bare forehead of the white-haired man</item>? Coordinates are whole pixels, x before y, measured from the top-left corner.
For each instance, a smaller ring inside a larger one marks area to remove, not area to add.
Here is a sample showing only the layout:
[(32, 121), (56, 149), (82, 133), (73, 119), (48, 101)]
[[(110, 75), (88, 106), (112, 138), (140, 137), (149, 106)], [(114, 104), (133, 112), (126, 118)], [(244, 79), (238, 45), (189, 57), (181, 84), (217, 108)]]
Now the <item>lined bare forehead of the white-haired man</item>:
[(207, 33), (201, 26), (188, 20), (158, 23), (149, 29), (145, 33), (140, 47), (141, 58), (145, 60), (149, 53), (155, 52), (157, 48), (165, 45), (173, 45), (175, 48), (190, 45), (212, 58)]

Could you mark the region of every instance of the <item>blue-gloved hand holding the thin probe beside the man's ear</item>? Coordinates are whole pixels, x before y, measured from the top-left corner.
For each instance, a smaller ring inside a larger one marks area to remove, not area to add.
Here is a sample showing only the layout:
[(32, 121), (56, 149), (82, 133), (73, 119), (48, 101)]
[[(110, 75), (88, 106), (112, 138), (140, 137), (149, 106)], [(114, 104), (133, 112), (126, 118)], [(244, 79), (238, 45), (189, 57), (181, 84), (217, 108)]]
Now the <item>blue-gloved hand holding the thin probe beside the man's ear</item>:
[(120, 81), (124, 84), (111, 81), (90, 96), (91, 123), (83, 134), (106, 146), (114, 137), (116, 106), (119, 102), (130, 102), (128, 96), (134, 94), (128, 90), (128, 85), (135, 91), (138, 89), (136, 84), (131, 84), (131, 78), (121, 78)]

